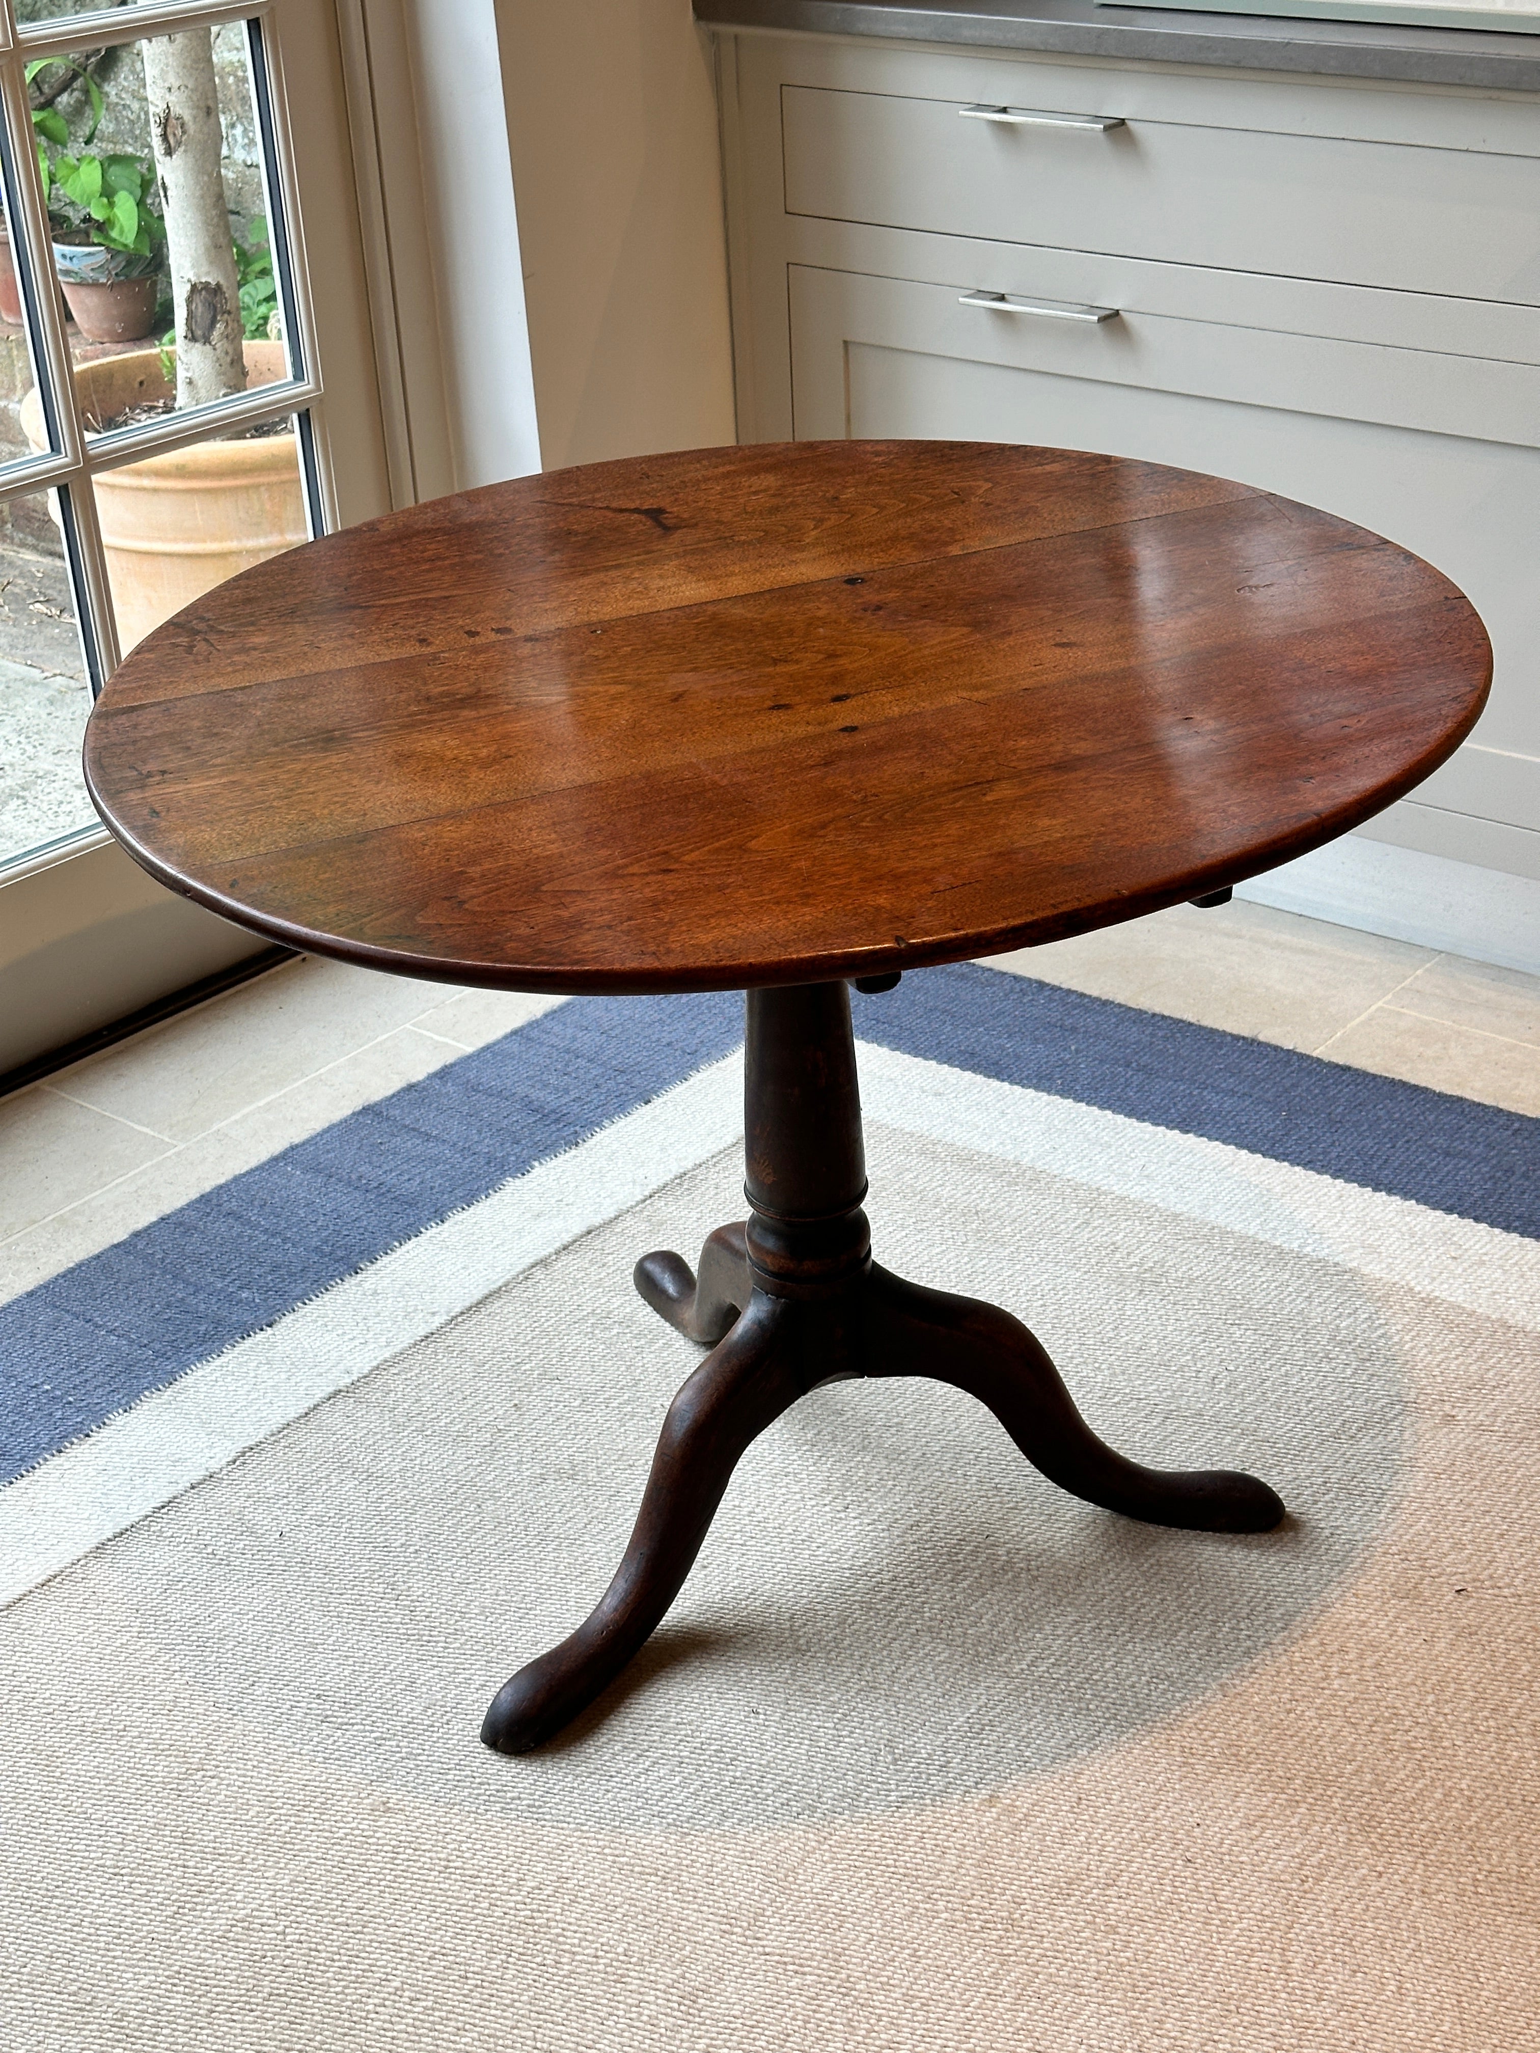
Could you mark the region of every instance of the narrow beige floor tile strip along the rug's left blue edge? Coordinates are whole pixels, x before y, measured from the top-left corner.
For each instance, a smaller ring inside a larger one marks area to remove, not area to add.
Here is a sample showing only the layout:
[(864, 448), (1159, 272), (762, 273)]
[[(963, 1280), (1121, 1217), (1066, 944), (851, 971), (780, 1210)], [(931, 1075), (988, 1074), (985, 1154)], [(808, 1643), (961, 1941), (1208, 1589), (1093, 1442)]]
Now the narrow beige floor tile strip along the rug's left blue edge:
[[(335, 1119), (347, 1119), (361, 1105), (374, 1105), (405, 1084), (441, 1070), (460, 1057), (448, 1041), (433, 1041), (409, 1026), (384, 1041), (347, 1055), (318, 1076), (304, 1078), (224, 1127), (203, 1133), (183, 1148), (166, 1150), (156, 1162), (123, 1176), (111, 1191), (99, 1191), (51, 1207), (29, 1232), (0, 1246), (0, 1300), (35, 1289), (74, 1263), (109, 1248), (125, 1234), (191, 1203), (203, 1191), (238, 1176), (296, 1141), (320, 1133)], [(68, 1105), (68, 1100), (57, 1100)], [(82, 1119), (101, 1119), (70, 1107)], [(0, 1105), (0, 1113), (4, 1107)], [(127, 1131), (127, 1129), (125, 1129)], [(60, 1209), (68, 1207), (68, 1209)]]

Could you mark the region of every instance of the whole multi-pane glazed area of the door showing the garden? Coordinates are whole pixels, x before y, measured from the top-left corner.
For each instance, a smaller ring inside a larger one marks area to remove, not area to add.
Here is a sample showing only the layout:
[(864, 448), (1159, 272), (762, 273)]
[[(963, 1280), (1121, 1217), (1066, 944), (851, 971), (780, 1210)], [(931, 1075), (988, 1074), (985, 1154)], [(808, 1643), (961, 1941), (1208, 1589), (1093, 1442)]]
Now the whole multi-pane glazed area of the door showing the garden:
[(121, 655), (326, 526), (275, 12), (0, 0), (0, 862), (94, 825)]

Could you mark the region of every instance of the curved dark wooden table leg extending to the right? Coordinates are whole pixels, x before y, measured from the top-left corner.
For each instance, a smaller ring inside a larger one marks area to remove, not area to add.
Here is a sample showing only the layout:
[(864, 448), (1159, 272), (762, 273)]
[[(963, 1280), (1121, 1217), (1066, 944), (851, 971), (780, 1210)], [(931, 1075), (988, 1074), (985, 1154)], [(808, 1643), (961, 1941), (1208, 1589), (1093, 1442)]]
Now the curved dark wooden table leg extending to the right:
[(1041, 1343), (1010, 1312), (922, 1289), (873, 1269), (867, 1373), (934, 1376), (996, 1415), (1027, 1460), (1072, 1497), (1150, 1525), (1261, 1534), (1283, 1503), (1255, 1476), (1224, 1468), (1142, 1468), (1096, 1439)]

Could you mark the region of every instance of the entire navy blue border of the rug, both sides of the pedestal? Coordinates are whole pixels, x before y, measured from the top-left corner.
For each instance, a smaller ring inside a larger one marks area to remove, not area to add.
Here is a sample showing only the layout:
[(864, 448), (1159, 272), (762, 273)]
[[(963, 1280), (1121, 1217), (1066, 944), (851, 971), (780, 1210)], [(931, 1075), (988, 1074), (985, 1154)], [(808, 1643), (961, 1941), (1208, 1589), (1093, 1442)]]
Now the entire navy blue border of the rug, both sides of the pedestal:
[[(883, 1047), (1540, 1238), (1540, 1121), (996, 969), (856, 1002)], [(624, 1117), (741, 1000), (577, 998), (0, 1308), (0, 1482)]]

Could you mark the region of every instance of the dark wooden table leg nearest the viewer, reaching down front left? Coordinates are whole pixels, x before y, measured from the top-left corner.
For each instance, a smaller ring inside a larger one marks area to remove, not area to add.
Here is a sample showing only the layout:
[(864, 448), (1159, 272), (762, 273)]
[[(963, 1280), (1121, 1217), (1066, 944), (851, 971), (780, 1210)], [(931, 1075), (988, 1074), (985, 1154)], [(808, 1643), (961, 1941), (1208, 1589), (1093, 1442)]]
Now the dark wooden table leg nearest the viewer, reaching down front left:
[(552, 1739), (673, 1603), (743, 1449), (803, 1394), (782, 1312), (782, 1300), (756, 1293), (669, 1404), (624, 1560), (591, 1618), (493, 1698), (480, 1737), (497, 1753)]

